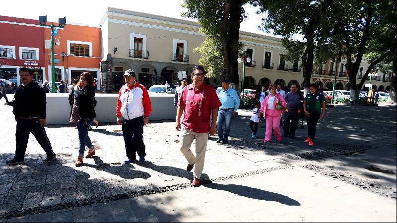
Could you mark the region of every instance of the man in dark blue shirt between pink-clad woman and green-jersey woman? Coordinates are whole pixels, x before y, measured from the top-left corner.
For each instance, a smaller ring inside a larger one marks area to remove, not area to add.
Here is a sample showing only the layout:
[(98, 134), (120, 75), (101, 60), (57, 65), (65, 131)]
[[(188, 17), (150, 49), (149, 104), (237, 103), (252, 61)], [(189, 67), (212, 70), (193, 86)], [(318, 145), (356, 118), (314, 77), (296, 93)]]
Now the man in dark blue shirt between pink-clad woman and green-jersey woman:
[[(301, 111), (301, 102), (305, 99), (299, 94), (296, 84), (291, 85), (291, 91), (285, 95), (287, 108), (284, 112), (284, 137), (295, 137), (296, 126)], [(290, 123), (291, 122), (291, 123)]]

